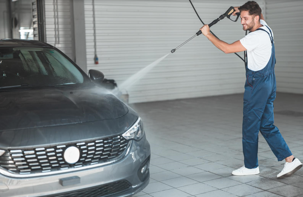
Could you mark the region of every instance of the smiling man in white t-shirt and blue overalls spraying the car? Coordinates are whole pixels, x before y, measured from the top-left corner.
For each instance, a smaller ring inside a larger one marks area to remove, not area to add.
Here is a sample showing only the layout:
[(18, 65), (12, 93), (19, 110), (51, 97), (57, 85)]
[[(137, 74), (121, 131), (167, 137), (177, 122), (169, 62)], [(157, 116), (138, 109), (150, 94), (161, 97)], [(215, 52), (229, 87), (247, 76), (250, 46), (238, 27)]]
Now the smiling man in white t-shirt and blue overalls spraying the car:
[(243, 30), (250, 31), (241, 40), (228, 44), (213, 36), (208, 25), (200, 29), (202, 34), (224, 53), (247, 51), (242, 125), (244, 166), (232, 171), (232, 174), (260, 173), (258, 166), (258, 133), (260, 131), (278, 161), (283, 159), (286, 161), (277, 177), (289, 177), (302, 167), (302, 163), (292, 155), (279, 129), (273, 125), (273, 101), (276, 97), (273, 31), (264, 21), (261, 8), (255, 1), (235, 7), (232, 15), (235, 16), (237, 12), (241, 13)]

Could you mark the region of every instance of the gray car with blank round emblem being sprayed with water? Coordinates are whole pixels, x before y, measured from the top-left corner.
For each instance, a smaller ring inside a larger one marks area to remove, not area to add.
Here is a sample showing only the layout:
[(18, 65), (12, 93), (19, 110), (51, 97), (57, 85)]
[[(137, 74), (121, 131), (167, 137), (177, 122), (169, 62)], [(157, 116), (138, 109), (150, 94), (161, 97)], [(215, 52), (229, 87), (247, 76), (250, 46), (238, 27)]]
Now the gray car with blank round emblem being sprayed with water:
[(150, 146), (129, 106), (57, 48), (0, 40), (0, 196), (131, 196)]

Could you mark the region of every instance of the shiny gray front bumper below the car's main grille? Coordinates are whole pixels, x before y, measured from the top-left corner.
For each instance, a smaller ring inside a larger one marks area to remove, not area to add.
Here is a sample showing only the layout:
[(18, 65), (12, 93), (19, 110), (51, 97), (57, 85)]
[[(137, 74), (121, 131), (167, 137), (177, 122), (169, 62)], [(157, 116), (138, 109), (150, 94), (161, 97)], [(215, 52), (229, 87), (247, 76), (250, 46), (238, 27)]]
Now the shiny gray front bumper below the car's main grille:
[[(149, 142), (144, 137), (140, 141), (131, 141), (128, 154), (115, 163), (99, 168), (90, 168), (70, 173), (56, 174), (43, 177), (12, 178), (0, 174), (1, 197), (40, 197), (69, 191), (81, 190), (89, 187), (105, 185), (115, 181), (125, 180), (131, 188), (111, 197), (126, 197), (143, 190), (149, 183), (149, 174), (144, 181), (140, 181), (138, 170), (150, 155)], [(60, 179), (80, 177), (80, 183), (62, 186)]]

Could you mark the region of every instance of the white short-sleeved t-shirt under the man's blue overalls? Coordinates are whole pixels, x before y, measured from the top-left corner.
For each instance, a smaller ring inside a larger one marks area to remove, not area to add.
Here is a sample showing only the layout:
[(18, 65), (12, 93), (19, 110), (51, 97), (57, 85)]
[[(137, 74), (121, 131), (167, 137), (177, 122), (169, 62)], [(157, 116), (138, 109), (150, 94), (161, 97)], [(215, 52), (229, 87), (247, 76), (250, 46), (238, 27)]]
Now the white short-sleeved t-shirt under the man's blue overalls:
[[(260, 20), (261, 29), (269, 32), (269, 29), (265, 26), (267, 23), (264, 20)], [(268, 26), (268, 25), (267, 25)], [(270, 29), (271, 30), (271, 29)], [(271, 30), (272, 35), (273, 31)], [(271, 56), (271, 41), (269, 35), (262, 31), (257, 30), (247, 34), (240, 40), (243, 47), (247, 49), (247, 67), (252, 71), (258, 71), (264, 69)]]

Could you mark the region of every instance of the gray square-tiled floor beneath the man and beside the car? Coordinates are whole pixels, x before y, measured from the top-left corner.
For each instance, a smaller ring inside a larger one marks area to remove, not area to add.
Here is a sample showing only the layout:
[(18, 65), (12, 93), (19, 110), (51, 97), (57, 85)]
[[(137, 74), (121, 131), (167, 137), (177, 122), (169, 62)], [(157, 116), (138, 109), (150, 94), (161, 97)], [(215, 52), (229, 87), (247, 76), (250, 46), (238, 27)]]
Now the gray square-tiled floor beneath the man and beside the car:
[[(303, 169), (277, 179), (278, 162), (259, 136), (260, 174), (233, 176), (243, 165), (242, 95), (131, 105), (151, 145), (149, 185), (140, 197), (303, 197)], [(277, 93), (275, 125), (303, 161), (303, 95)], [(280, 114), (279, 112), (282, 112)]]

